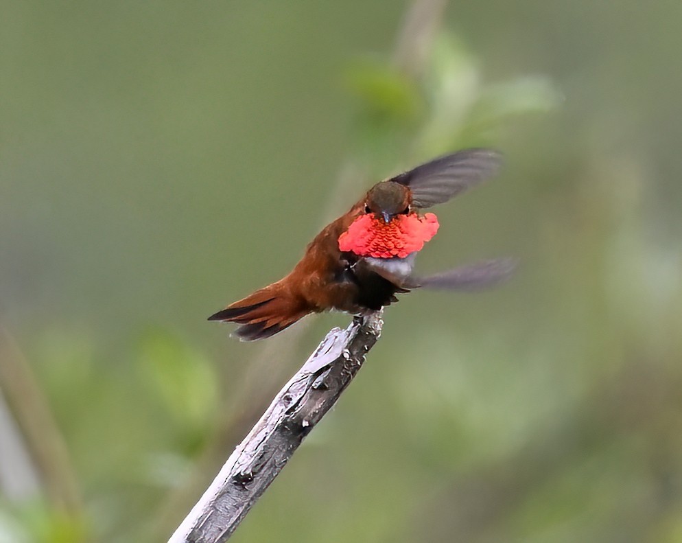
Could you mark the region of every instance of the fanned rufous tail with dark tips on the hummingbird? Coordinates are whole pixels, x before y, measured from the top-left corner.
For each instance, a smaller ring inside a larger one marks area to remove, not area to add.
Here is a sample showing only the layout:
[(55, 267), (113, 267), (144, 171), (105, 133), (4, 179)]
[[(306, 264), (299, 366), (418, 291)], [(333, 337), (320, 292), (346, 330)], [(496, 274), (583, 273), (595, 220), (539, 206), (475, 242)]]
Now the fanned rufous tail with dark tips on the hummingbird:
[(274, 336), (309, 312), (300, 301), (287, 295), (281, 284), (274, 283), (231, 303), (209, 316), (209, 321), (238, 323), (241, 326), (233, 333), (243, 341), (255, 341)]

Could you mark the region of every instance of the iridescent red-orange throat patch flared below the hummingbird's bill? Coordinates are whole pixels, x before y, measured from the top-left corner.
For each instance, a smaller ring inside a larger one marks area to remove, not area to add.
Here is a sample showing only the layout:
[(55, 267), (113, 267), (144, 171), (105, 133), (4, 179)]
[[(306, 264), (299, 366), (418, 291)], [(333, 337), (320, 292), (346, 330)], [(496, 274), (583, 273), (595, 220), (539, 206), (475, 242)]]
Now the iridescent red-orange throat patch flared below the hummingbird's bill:
[(397, 215), (388, 224), (373, 213), (361, 215), (339, 236), (339, 249), (361, 257), (405, 258), (436, 235), (434, 213)]

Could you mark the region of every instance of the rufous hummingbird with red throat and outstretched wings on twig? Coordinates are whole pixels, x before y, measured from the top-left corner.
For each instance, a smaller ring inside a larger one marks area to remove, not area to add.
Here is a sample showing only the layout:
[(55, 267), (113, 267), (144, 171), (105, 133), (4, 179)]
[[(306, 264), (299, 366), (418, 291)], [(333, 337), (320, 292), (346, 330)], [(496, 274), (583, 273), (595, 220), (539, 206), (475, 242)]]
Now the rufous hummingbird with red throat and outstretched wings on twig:
[(423, 209), (494, 176), (499, 152), (466, 149), (438, 157), (374, 185), (347, 213), (328, 224), (292, 272), (209, 317), (240, 326), (244, 341), (278, 334), (310, 313), (376, 311), (415, 288), (471, 290), (510, 275), (511, 259), (461, 266), (436, 275), (413, 274), (416, 254), (438, 231)]

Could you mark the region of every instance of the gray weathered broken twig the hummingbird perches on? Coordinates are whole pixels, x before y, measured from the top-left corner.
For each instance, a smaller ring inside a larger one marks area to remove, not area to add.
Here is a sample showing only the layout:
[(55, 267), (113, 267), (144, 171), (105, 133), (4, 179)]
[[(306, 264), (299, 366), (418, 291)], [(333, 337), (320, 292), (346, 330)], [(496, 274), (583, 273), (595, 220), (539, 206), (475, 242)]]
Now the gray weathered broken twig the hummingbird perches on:
[(381, 334), (381, 312), (331, 330), (217, 474), (169, 543), (226, 541), (329, 411)]

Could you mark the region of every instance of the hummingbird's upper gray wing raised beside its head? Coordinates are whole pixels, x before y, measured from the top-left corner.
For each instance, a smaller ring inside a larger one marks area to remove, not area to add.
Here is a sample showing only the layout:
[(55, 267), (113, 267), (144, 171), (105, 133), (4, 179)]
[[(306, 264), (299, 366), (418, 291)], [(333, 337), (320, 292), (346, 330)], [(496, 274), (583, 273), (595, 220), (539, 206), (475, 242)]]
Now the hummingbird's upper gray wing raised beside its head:
[(424, 208), (447, 202), (469, 187), (497, 174), (502, 154), (492, 149), (465, 149), (403, 172), (395, 181), (412, 191), (412, 205)]

